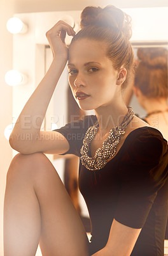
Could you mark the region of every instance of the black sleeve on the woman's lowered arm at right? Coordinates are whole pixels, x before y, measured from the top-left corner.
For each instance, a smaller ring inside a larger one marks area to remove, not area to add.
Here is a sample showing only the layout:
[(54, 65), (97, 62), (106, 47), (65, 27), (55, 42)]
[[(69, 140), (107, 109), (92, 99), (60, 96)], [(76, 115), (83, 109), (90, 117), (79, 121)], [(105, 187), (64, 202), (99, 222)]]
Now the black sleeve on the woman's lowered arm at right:
[(122, 185), (115, 220), (132, 228), (143, 227), (158, 189), (167, 180), (167, 143), (159, 132), (149, 131), (127, 141), (118, 170)]

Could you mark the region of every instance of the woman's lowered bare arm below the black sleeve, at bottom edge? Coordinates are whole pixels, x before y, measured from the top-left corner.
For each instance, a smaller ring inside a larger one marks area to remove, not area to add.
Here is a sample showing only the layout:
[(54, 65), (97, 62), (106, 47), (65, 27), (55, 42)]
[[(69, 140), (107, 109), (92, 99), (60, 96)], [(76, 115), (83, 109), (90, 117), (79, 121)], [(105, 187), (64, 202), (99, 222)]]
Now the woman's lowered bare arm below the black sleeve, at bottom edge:
[(111, 225), (108, 243), (92, 256), (130, 256), (141, 228), (131, 228), (115, 219)]

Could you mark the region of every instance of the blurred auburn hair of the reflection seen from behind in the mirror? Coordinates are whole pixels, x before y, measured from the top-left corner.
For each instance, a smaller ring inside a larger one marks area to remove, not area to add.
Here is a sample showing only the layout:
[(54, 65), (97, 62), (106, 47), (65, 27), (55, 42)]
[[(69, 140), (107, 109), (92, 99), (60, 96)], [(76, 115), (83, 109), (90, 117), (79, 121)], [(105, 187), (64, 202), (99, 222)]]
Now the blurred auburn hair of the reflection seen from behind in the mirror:
[(139, 48), (135, 86), (148, 98), (167, 97), (167, 49)]

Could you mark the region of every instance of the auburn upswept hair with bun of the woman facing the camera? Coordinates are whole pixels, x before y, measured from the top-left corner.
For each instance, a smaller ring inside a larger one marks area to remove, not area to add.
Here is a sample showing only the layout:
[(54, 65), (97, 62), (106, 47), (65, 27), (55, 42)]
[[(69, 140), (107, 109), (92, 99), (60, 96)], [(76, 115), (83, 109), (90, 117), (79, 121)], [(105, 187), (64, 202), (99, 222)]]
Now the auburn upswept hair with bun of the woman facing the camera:
[(127, 79), (132, 78), (134, 53), (129, 42), (132, 36), (130, 22), (130, 16), (113, 5), (105, 8), (88, 6), (81, 13), (81, 30), (73, 37), (71, 44), (81, 38), (105, 42), (113, 68), (119, 70), (125, 67)]

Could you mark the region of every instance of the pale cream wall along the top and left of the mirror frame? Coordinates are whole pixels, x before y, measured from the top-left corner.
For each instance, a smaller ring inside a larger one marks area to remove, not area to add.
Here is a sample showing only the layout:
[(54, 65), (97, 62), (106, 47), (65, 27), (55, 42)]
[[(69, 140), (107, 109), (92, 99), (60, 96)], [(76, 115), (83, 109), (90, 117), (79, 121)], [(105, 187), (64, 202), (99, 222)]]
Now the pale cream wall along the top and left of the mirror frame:
[[(12, 122), (12, 88), (4, 82), (4, 74), (12, 68), (12, 36), (6, 22), (13, 13), (82, 10), (87, 5), (114, 4), (120, 8), (168, 6), (167, 0), (1, 0), (0, 2), (0, 255), (3, 256), (3, 200), (6, 172), (11, 161), (11, 148), (4, 138), (4, 128)], [(21, 109), (20, 109), (21, 110)]]

